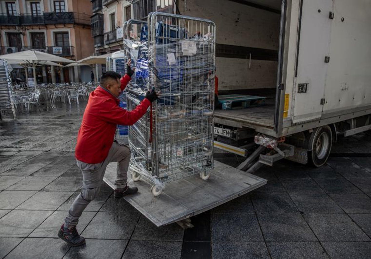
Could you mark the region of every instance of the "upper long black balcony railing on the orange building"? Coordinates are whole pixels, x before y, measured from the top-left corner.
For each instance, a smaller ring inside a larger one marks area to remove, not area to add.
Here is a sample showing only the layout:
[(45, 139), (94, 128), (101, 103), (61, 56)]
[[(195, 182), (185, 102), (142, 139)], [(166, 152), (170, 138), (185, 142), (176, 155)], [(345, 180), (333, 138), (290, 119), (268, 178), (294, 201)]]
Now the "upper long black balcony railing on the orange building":
[(76, 23), (90, 25), (89, 14), (62, 12), (62, 13), (42, 13), (39, 15), (33, 14), (17, 14), (15, 16), (8, 14), (0, 14), (0, 25), (33, 25), (33, 24), (66, 24)]

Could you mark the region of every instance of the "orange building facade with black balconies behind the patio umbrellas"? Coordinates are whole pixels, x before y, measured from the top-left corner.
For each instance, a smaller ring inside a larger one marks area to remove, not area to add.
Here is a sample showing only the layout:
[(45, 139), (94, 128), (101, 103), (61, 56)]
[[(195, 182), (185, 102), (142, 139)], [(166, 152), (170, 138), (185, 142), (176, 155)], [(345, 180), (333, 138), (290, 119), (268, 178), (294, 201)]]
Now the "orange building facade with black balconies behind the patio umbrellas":
[[(1, 0), (0, 54), (34, 49), (72, 60), (88, 57), (95, 52), (91, 15), (89, 0)], [(38, 83), (80, 77), (79, 67), (37, 69)]]

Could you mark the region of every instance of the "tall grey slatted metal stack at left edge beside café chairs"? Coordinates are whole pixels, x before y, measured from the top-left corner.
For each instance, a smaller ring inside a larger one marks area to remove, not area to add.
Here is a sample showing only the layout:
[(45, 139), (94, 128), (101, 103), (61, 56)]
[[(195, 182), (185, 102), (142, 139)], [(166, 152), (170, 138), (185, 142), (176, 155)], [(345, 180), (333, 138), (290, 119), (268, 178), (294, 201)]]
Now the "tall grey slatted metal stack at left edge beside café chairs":
[(9, 76), (8, 63), (3, 59), (0, 59), (0, 112), (1, 111), (12, 112), (13, 119), (16, 119), (12, 80)]

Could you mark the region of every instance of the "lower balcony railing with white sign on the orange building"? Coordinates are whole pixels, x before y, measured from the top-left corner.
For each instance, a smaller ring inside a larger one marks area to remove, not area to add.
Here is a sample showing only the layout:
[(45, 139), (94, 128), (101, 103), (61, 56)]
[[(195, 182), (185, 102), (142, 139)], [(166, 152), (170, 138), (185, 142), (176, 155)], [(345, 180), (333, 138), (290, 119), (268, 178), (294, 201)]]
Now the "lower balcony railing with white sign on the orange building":
[(26, 50), (37, 50), (60, 57), (70, 57), (75, 55), (75, 47), (73, 46), (50, 46), (50, 47), (9, 47), (0, 46), (0, 54), (10, 54)]

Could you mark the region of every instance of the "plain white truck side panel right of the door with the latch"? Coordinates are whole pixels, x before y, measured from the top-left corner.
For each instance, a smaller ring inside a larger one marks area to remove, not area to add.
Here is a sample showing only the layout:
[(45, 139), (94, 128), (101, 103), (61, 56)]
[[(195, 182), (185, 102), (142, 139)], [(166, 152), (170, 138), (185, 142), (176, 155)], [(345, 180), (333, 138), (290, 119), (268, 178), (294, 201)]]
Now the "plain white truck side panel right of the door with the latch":
[(334, 3), (324, 114), (371, 105), (371, 1)]

